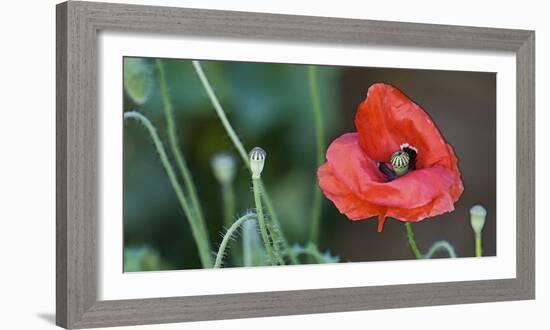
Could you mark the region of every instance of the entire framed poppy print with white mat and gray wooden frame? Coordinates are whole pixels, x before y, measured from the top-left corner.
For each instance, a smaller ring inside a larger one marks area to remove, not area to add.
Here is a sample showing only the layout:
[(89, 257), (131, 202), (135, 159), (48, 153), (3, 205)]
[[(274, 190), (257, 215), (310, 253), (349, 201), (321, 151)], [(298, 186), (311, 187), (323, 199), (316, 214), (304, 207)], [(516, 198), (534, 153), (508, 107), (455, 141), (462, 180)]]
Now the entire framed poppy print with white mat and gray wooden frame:
[(57, 324), (534, 299), (534, 47), (57, 5)]

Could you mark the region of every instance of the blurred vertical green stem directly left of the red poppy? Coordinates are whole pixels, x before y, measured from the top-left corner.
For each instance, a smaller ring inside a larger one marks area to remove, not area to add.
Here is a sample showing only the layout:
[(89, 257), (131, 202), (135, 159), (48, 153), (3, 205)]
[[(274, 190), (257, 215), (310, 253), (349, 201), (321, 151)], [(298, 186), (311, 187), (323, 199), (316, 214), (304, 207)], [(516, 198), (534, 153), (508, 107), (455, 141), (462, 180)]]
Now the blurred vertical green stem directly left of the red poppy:
[[(315, 125), (315, 140), (317, 146), (317, 167), (319, 167), (325, 157), (325, 132), (323, 125), (323, 113), (321, 112), (321, 101), (319, 99), (319, 88), (317, 86), (317, 68), (310, 65), (308, 67), (309, 94), (311, 97), (311, 108), (313, 110), (313, 119)], [(319, 226), (321, 222), (322, 196), (321, 190), (317, 185), (317, 180), (313, 186), (313, 208), (311, 211), (311, 223), (309, 239), (313, 243), (319, 240)]]

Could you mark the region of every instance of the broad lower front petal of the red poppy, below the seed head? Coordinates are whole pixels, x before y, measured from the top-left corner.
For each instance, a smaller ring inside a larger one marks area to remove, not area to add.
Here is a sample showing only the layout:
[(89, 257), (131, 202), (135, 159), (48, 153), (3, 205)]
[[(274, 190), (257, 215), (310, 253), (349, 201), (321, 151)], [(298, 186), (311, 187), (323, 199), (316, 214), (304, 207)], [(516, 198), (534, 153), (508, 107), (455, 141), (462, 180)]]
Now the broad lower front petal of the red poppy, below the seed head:
[(441, 165), (385, 182), (376, 162), (362, 151), (357, 133), (335, 139), (327, 160), (318, 170), (325, 196), (350, 220), (378, 216), (380, 230), (387, 216), (414, 222), (450, 212), (463, 189), (458, 179), (460, 193), (453, 192), (456, 176)]

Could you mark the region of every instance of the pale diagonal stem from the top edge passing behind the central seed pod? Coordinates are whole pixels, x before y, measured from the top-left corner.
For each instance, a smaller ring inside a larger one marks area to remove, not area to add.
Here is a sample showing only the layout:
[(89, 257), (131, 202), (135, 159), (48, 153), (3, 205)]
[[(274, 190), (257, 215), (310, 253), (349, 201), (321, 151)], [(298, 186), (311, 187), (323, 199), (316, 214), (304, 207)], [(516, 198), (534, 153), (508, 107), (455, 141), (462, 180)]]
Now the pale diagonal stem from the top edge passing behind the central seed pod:
[[(237, 133), (235, 133), (235, 130), (231, 126), (231, 123), (229, 123), (229, 120), (227, 119), (227, 116), (225, 115), (225, 112), (220, 104), (220, 101), (218, 100), (218, 97), (216, 96), (216, 93), (214, 93), (214, 89), (212, 88), (212, 85), (210, 85), (210, 82), (208, 81), (208, 78), (206, 77), (204, 70), (202, 69), (202, 66), (199, 61), (193, 61), (193, 67), (195, 68), (195, 72), (199, 76), (199, 79), (201, 81), (201, 84), (206, 91), (206, 94), (208, 95), (208, 98), (210, 99), (210, 102), (212, 103), (212, 106), (216, 110), (216, 113), (218, 115), (218, 118), (222, 122), (222, 125), (227, 133), (229, 135), (229, 138), (231, 139), (231, 142), (233, 142), (233, 145), (237, 149), (237, 152), (241, 156), (243, 162), (246, 164), (248, 170), (250, 170), (250, 162), (248, 158), (248, 153), (246, 152), (242, 142), (240, 141), (239, 137), (237, 136)], [(286, 254), (289, 256), (289, 259), (291, 263), (297, 264), (298, 259), (292, 252), (292, 249), (290, 249), (288, 241), (286, 240), (282, 230), (281, 230), (281, 224), (279, 222), (279, 218), (277, 217), (277, 214), (275, 213), (275, 208), (273, 207), (273, 203), (271, 202), (271, 198), (269, 198), (269, 195), (264, 187), (263, 182), (261, 179), (259, 180), (258, 186), (262, 189), (262, 200), (265, 203), (265, 207), (267, 210), (267, 213), (269, 214), (269, 217), (271, 218), (271, 221), (273, 222), (273, 225), (278, 229), (280, 233), (281, 238), (281, 244), (283, 246), (283, 249), (285, 250)]]

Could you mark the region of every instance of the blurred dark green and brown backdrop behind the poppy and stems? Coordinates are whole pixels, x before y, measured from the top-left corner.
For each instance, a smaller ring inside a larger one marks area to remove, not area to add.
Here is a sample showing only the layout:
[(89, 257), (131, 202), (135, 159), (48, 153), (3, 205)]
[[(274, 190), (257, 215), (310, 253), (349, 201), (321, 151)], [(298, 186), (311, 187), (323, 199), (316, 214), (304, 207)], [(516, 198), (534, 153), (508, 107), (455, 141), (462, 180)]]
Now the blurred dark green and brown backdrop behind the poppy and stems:
[[(136, 62), (137, 60), (137, 62)], [(168, 149), (166, 122), (154, 59), (124, 58), (124, 111), (136, 110), (156, 126)], [(237, 214), (254, 207), (250, 176), (239, 161), (190, 60), (162, 60), (179, 142), (205, 213), (212, 248), (223, 234), (220, 187), (213, 155), (230, 152), (238, 161)], [(229, 120), (249, 150), (267, 151), (262, 177), (291, 243), (305, 244), (316, 184), (316, 146), (306, 65), (202, 61)], [(357, 105), (368, 87), (386, 82), (400, 88), (433, 118), (459, 158), (465, 192), (453, 213), (413, 228), (420, 249), (448, 240), (459, 257), (474, 255), (469, 208), (483, 204), (487, 223), (484, 255), (496, 253), (496, 75), (494, 73), (359, 67), (317, 67), (326, 144), (355, 131)], [(128, 87), (128, 86), (126, 86)], [(172, 162), (174, 164), (174, 162)], [(124, 123), (125, 271), (201, 268), (187, 220), (147, 131)], [(319, 248), (340, 261), (413, 259), (403, 223), (388, 219), (351, 222), (324, 196)], [(444, 253), (436, 257), (446, 257)], [(229, 265), (231, 266), (231, 265)]]

